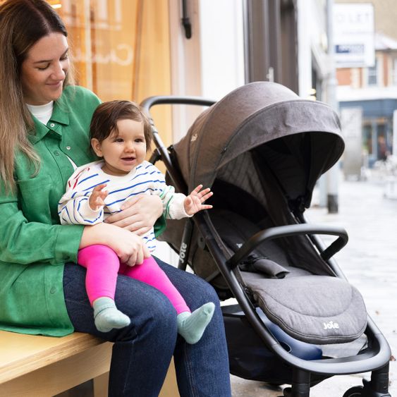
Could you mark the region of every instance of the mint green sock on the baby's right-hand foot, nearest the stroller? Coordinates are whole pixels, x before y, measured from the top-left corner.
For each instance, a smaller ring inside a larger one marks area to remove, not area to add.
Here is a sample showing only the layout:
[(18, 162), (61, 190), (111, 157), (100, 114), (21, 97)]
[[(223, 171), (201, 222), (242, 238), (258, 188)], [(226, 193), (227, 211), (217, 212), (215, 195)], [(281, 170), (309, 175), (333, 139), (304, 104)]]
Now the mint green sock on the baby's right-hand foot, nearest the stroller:
[(182, 312), (176, 317), (178, 333), (183, 336), (186, 342), (193, 345), (200, 341), (204, 330), (212, 319), (215, 305), (212, 302), (205, 303), (193, 313)]

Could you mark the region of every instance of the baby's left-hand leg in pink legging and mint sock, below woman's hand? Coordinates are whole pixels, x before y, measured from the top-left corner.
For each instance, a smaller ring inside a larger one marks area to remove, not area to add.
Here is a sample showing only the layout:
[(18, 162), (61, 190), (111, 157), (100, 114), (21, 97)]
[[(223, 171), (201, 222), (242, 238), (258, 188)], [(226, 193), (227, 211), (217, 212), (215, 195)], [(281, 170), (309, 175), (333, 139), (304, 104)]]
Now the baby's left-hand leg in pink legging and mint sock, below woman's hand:
[(116, 308), (114, 292), (120, 261), (106, 245), (90, 245), (78, 252), (78, 264), (87, 269), (85, 288), (94, 309), (95, 326), (101, 332), (123, 328), (130, 318)]

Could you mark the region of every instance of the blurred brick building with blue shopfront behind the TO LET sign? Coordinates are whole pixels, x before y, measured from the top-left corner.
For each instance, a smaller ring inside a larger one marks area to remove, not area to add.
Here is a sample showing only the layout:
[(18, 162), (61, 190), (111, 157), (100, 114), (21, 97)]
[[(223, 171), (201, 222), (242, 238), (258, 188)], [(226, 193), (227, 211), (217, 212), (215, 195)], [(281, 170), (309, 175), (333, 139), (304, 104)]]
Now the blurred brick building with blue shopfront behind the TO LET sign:
[[(360, 6), (366, 2), (337, 0), (336, 3)], [(338, 68), (337, 97), (342, 118), (343, 112), (346, 114), (343, 118), (346, 123), (353, 123), (360, 112), (363, 165), (372, 166), (393, 150), (397, 109), (397, 9), (393, 0), (372, 0), (367, 4), (374, 8), (374, 62), (372, 66)]]

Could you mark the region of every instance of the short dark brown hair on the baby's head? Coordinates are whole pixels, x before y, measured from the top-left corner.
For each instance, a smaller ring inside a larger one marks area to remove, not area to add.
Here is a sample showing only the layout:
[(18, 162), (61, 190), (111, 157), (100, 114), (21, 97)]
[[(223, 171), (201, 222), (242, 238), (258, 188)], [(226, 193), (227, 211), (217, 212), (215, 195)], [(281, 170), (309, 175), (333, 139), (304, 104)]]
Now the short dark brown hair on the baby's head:
[(97, 138), (99, 142), (102, 142), (112, 133), (118, 134), (117, 121), (126, 119), (142, 121), (146, 151), (149, 150), (152, 143), (152, 128), (149, 120), (143, 114), (140, 106), (130, 101), (118, 100), (100, 104), (92, 115), (90, 138)]

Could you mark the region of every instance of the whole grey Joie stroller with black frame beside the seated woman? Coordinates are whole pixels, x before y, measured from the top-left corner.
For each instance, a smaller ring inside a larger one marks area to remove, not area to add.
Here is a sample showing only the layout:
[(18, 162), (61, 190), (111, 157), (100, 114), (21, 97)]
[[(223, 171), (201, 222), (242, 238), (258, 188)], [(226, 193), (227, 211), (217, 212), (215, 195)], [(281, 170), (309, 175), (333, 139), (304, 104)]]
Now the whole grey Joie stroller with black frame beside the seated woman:
[(202, 183), (214, 192), (213, 209), (167, 221), (160, 238), (179, 253), (178, 267), (189, 264), (225, 303), (235, 298), (222, 305), (231, 373), (304, 397), (331, 376), (370, 371), (343, 397), (390, 396), (389, 345), (333, 259), (348, 235), (303, 214), (344, 149), (335, 112), (268, 82), (219, 102), (161, 96), (141, 105), (150, 116), (158, 104), (209, 106), (169, 148), (151, 120), (150, 161), (164, 162), (176, 191)]

